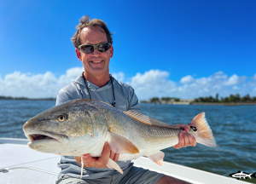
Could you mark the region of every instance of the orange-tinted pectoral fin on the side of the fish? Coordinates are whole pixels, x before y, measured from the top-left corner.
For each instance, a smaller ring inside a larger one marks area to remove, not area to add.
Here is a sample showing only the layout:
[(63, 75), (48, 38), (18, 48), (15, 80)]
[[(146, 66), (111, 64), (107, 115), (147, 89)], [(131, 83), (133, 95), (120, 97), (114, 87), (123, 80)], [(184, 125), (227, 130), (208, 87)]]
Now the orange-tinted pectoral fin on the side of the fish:
[(111, 150), (116, 153), (131, 153), (135, 154), (140, 152), (138, 148), (125, 137), (113, 134), (110, 132), (111, 140), (108, 142)]

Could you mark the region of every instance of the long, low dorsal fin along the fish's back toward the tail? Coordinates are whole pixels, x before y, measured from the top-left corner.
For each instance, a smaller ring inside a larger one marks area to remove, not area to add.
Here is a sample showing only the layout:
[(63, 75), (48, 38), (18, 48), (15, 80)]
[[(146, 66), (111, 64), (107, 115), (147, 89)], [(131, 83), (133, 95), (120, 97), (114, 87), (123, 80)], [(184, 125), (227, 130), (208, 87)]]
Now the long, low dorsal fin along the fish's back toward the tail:
[(166, 124), (166, 123), (161, 122), (157, 119), (150, 118), (147, 115), (144, 115), (144, 114), (142, 114), (140, 112), (137, 112), (135, 110), (130, 110), (130, 111), (127, 111), (127, 112), (124, 112), (124, 113), (127, 114), (128, 116), (130, 116), (131, 118), (137, 119), (138, 121), (142, 122), (143, 124), (166, 127), (166, 128), (171, 128), (171, 129), (180, 129), (175, 125)]

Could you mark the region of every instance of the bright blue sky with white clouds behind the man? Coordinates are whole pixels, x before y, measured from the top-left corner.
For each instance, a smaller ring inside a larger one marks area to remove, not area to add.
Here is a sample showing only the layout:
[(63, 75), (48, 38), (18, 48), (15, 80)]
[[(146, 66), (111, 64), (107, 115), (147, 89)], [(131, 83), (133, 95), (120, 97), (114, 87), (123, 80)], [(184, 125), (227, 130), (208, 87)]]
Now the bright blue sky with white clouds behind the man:
[[(81, 67), (70, 38), (84, 14), (107, 22), (114, 33), (110, 72), (135, 85), (138, 92), (143, 93), (138, 88), (152, 80), (147, 78), (140, 84), (135, 80), (147, 75), (155, 75), (155, 85), (162, 78), (160, 83), (175, 84), (170, 88), (178, 91), (222, 72), (223, 89), (195, 92), (194, 97), (213, 95), (218, 90), (220, 94), (226, 91), (223, 95), (256, 95), (255, 9), (254, 0), (4, 1), (0, 6), (0, 95), (12, 90), (9, 95), (36, 96), (26, 91), (16, 94), (8, 83), (19, 82), (22, 76), (27, 80), (44, 77), (47, 72), (59, 80), (67, 77), (67, 70)], [(32, 85), (27, 84), (30, 88)], [(193, 97), (189, 95), (191, 88), (182, 94), (161, 90), (147, 97)]]

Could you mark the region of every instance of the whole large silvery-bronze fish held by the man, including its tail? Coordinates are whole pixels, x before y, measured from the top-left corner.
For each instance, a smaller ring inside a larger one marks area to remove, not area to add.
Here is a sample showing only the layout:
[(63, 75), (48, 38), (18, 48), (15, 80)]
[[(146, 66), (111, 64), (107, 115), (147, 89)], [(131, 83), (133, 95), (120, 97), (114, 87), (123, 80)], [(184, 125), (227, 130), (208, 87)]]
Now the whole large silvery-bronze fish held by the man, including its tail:
[[(197, 142), (216, 147), (204, 112), (189, 124)], [(90, 153), (100, 157), (108, 141), (119, 161), (147, 156), (161, 164), (160, 150), (178, 143), (183, 130), (136, 111), (121, 112), (100, 101), (75, 100), (55, 106), (31, 118), (23, 126), (28, 146), (39, 152), (65, 156)]]

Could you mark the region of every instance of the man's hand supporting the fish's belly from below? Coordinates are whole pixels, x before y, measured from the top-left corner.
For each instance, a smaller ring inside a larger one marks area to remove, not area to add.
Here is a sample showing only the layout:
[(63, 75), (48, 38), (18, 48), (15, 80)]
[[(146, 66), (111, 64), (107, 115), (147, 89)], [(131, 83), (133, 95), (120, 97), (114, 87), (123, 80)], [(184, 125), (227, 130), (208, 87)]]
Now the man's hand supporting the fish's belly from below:
[[(75, 157), (76, 161), (81, 165), (81, 157)], [(119, 159), (119, 153), (112, 152), (108, 142), (105, 142), (105, 145), (102, 150), (102, 157), (93, 158), (90, 157), (90, 154), (83, 155), (83, 162), (85, 167), (94, 167), (94, 168), (108, 168), (108, 159), (113, 159), (116, 162)]]

